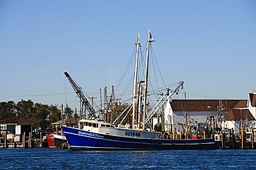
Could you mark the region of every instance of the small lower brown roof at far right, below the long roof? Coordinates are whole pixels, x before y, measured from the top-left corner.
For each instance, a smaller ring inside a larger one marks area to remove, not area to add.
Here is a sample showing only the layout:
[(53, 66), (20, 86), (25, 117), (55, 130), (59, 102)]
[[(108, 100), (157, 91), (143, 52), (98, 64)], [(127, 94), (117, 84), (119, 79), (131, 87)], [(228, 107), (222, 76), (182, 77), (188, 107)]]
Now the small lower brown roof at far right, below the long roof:
[(228, 112), (224, 117), (224, 120), (255, 120), (252, 113), (247, 108), (234, 108)]

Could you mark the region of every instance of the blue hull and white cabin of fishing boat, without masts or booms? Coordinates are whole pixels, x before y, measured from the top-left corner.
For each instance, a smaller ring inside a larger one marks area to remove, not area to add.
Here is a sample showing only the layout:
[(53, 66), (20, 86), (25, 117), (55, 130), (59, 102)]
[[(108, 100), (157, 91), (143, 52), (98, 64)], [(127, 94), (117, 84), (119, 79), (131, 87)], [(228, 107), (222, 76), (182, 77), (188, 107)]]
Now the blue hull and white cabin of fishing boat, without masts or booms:
[(80, 127), (62, 126), (71, 149), (215, 149), (213, 139), (163, 139), (156, 132), (118, 128), (93, 120), (80, 120)]

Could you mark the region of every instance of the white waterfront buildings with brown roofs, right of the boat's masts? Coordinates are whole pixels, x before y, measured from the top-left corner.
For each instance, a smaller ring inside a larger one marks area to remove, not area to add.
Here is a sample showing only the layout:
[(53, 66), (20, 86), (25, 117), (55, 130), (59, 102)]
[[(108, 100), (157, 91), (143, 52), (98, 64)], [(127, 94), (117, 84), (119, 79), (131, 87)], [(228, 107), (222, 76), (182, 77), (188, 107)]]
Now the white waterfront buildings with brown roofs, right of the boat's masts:
[[(241, 120), (241, 117), (238, 116), (238, 111), (241, 110), (242, 119), (245, 121), (250, 121), (250, 123), (255, 121), (255, 101), (255, 94), (249, 94), (248, 100), (170, 100), (167, 102), (164, 110), (165, 131), (171, 128), (172, 131), (174, 131), (175, 128), (178, 131), (182, 129), (182, 124), (185, 124), (185, 117), (187, 117), (188, 122), (192, 123), (210, 123), (210, 117), (216, 120), (220, 108), (223, 111), (223, 115), (226, 115), (223, 125), (228, 129), (233, 128), (237, 130), (237, 123)], [(247, 103), (248, 106), (244, 106)], [(253, 115), (251, 113), (253, 113)]]

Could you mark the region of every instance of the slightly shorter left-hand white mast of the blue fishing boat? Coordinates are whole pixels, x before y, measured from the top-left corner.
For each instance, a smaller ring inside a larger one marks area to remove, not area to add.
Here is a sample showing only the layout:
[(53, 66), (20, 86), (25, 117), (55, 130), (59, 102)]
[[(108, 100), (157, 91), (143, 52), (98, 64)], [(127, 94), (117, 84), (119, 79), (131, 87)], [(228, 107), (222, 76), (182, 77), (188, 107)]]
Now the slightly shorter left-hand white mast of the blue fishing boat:
[(138, 34), (138, 39), (136, 42), (136, 62), (134, 70), (134, 97), (133, 97), (133, 108), (132, 108), (132, 129), (134, 129), (135, 122), (135, 111), (136, 111), (136, 86), (137, 86), (137, 76), (138, 76), (138, 49), (140, 48), (140, 34)]

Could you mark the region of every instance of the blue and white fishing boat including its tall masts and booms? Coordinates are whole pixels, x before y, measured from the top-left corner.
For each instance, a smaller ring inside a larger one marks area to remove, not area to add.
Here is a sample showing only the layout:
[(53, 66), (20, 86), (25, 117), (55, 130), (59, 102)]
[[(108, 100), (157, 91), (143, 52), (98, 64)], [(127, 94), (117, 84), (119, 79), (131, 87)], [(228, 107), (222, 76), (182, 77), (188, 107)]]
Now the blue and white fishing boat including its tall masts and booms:
[[(140, 35), (136, 42), (136, 67), (134, 75), (134, 95), (133, 102), (129, 104), (132, 107), (129, 111), (125, 109), (118, 118), (122, 117), (122, 121), (116, 126), (116, 120), (108, 123), (99, 117), (95, 117), (95, 111), (90, 106), (88, 100), (83, 95), (80, 86), (75, 84), (73, 79), (65, 72), (68, 81), (73, 86), (77, 96), (80, 97), (81, 103), (87, 108), (91, 117), (94, 119), (82, 119), (77, 127), (62, 126), (62, 130), (71, 149), (115, 149), (115, 150), (154, 150), (154, 149), (215, 149), (215, 142), (212, 138), (194, 138), (176, 139), (176, 135), (170, 135), (172, 130), (158, 131), (152, 128), (152, 117), (159, 113), (159, 108), (169, 101), (172, 95), (179, 92), (183, 88), (183, 82), (179, 82), (179, 86), (170, 91), (167, 89), (156, 104), (147, 109), (147, 84), (148, 84), (148, 66), (149, 66), (149, 48), (154, 41), (151, 32), (149, 32), (147, 40), (147, 59), (145, 68), (145, 81), (137, 81), (138, 72), (138, 48), (140, 47)], [(127, 108), (129, 108), (129, 106)], [(131, 125), (123, 125), (126, 115), (132, 115)], [(163, 121), (165, 122), (165, 121)], [(186, 128), (188, 130), (188, 126)], [(196, 129), (196, 132), (198, 128)], [(167, 134), (167, 135), (165, 135)]]

